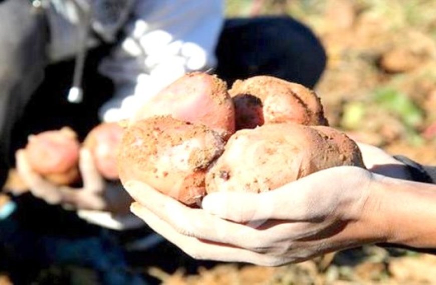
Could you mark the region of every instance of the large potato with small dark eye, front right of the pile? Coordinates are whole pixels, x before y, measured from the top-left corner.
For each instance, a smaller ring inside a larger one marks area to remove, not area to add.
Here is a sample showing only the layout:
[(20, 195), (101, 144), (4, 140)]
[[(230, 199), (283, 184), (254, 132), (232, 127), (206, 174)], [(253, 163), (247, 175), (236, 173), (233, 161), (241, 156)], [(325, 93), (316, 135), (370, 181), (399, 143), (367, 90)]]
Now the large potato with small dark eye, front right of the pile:
[(206, 191), (263, 192), (339, 165), (364, 167), (359, 148), (339, 131), (295, 123), (241, 129), (206, 173)]

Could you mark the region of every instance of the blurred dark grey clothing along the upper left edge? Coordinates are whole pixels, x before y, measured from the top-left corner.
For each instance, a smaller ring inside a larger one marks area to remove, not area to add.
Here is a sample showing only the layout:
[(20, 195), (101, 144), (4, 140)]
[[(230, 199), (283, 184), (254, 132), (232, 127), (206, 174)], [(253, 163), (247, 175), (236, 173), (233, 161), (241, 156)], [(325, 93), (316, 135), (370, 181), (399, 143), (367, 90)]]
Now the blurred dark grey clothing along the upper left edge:
[(27, 0), (0, 2), (0, 184), (10, 164), (11, 131), (32, 93), (44, 78), (44, 16), (35, 13)]

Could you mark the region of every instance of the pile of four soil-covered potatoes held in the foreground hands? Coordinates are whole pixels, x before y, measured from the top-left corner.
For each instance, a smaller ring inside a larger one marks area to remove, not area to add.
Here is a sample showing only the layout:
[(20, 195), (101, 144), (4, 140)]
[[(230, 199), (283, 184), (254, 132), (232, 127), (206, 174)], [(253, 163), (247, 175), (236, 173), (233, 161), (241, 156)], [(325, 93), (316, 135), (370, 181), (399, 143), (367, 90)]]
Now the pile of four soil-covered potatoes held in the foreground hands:
[(117, 155), (122, 183), (141, 180), (195, 205), (212, 191), (262, 192), (339, 165), (359, 148), (328, 126), (314, 91), (272, 76), (185, 74), (137, 112)]

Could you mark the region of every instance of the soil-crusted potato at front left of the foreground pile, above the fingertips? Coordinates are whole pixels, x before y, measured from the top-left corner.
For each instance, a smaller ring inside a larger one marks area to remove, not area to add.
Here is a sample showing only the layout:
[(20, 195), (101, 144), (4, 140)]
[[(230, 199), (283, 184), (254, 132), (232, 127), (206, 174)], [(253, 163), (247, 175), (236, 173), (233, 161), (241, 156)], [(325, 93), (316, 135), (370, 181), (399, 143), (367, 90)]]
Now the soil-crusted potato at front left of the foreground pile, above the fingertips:
[(138, 120), (125, 129), (117, 155), (121, 182), (136, 179), (191, 205), (205, 194), (209, 164), (225, 138), (202, 124), (167, 116)]

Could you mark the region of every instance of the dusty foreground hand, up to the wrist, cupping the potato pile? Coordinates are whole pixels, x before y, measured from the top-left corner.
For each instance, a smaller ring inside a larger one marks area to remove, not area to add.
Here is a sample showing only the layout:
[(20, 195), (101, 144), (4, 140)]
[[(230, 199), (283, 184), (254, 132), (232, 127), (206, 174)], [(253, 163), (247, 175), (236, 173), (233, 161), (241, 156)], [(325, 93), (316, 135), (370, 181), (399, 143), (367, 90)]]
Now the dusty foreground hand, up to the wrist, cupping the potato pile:
[(387, 229), (371, 216), (375, 176), (333, 167), (269, 192), (211, 193), (202, 208), (139, 181), (125, 188), (137, 201), (132, 212), (194, 258), (280, 265), (383, 241)]

